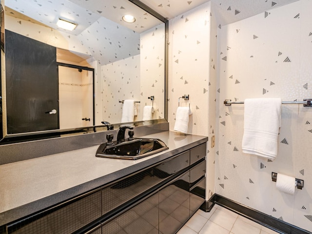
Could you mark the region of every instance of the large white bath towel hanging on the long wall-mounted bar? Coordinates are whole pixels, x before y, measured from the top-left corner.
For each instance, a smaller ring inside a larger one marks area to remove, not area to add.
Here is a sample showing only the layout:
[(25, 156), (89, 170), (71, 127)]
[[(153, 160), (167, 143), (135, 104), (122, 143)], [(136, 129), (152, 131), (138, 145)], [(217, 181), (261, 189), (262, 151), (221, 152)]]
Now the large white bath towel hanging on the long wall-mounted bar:
[(242, 151), (270, 159), (277, 156), (281, 98), (252, 98), (244, 104)]

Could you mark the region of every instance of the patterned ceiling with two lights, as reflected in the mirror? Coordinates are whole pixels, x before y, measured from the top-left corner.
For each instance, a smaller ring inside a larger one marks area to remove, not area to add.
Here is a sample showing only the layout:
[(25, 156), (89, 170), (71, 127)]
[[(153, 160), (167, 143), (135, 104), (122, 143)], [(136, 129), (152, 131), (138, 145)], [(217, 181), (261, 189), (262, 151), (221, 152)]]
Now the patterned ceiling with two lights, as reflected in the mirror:
[[(96, 24), (101, 18), (117, 23), (137, 33), (141, 33), (161, 23), (146, 11), (138, 8), (128, 0), (6, 0), (6, 14), (17, 18), (31, 18), (48, 27), (79, 35), (88, 27)], [(134, 23), (127, 23), (122, 17), (132, 14), (136, 17)], [(24, 15), (24, 16), (23, 16)], [(56, 23), (62, 18), (74, 23), (74, 31), (59, 28)]]

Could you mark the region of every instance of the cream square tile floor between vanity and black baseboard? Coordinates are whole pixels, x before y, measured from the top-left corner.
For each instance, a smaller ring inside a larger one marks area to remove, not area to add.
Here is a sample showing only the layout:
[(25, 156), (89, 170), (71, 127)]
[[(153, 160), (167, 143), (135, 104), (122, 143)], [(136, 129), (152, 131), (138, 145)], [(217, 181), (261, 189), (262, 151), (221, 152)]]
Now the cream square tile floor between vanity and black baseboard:
[(198, 210), (177, 234), (277, 234), (241, 215), (215, 205), (211, 212)]

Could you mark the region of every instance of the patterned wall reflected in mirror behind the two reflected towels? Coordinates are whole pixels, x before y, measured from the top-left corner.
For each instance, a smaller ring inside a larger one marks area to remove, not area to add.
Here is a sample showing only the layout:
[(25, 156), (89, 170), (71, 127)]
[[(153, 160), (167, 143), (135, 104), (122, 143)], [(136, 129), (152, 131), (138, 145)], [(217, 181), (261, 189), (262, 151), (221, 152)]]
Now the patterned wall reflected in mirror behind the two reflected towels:
[[(148, 97), (154, 96), (153, 119), (164, 118), (165, 75), (165, 25), (158, 25), (140, 34), (140, 54), (102, 66), (103, 120), (120, 123), (122, 103), (119, 100), (134, 99), (137, 116), (142, 120), (143, 108), (152, 105)], [(112, 79), (114, 78), (114, 79)], [(102, 121), (103, 121), (102, 120)]]

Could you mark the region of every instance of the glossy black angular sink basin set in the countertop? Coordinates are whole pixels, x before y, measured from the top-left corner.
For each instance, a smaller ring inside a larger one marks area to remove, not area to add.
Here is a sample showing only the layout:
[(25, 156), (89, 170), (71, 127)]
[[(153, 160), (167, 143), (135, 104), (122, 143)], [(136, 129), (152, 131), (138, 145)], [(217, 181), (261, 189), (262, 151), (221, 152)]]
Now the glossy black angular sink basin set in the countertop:
[(112, 145), (102, 143), (98, 147), (96, 156), (119, 159), (139, 159), (167, 149), (169, 148), (160, 139), (134, 138), (131, 141), (118, 144), (115, 141)]

